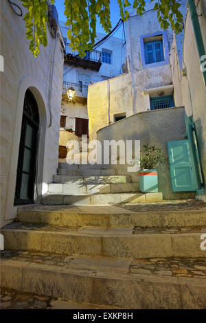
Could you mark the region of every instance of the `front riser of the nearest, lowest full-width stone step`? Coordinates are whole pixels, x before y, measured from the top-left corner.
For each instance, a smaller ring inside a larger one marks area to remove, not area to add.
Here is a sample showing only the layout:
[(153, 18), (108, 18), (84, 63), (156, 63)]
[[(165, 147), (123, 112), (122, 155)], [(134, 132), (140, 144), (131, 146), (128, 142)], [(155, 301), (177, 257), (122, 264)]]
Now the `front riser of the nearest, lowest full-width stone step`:
[(189, 281), (187, 278), (150, 278), (144, 275), (130, 279), (81, 276), (21, 262), (1, 265), (1, 286), (122, 309), (204, 308), (206, 292), (203, 279)]

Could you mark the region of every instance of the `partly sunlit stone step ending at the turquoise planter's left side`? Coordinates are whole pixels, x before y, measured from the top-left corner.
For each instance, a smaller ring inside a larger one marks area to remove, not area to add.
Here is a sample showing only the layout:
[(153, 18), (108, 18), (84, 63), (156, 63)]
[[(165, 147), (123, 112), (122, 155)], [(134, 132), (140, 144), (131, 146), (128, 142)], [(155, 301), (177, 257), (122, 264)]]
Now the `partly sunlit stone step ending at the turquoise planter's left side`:
[(138, 192), (139, 183), (111, 183), (111, 184), (84, 184), (84, 183), (50, 183), (48, 192), (54, 194), (104, 194)]

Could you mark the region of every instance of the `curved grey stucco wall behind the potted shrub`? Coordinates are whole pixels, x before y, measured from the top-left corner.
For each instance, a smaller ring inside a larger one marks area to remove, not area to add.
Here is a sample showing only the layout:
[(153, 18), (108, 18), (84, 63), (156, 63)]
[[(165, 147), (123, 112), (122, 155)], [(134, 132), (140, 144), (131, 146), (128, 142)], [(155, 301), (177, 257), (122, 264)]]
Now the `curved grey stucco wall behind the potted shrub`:
[[(150, 146), (155, 145), (168, 157), (167, 142), (183, 140), (185, 137), (184, 115), (183, 107), (137, 113), (100, 129), (98, 140), (102, 143), (104, 140), (140, 140), (141, 147), (147, 143)], [(133, 156), (134, 153), (133, 151)], [(115, 168), (117, 173), (127, 174), (127, 166), (117, 164), (111, 167)], [(168, 161), (159, 165), (157, 169), (159, 192), (163, 192), (163, 199), (194, 197), (194, 192), (172, 192)]]

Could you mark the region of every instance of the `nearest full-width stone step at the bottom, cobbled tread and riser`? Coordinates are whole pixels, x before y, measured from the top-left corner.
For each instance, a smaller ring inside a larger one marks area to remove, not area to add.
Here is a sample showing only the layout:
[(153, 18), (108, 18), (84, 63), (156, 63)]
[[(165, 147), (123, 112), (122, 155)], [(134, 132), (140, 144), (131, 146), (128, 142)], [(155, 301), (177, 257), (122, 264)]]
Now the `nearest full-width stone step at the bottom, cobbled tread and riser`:
[(1, 287), (105, 308), (205, 309), (205, 260), (5, 251)]

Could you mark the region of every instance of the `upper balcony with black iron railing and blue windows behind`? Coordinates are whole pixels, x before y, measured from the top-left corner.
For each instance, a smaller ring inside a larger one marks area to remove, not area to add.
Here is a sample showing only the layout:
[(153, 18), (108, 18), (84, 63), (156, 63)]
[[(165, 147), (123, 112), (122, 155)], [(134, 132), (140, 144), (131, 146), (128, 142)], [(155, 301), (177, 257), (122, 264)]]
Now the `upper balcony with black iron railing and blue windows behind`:
[(80, 66), (84, 69), (93, 69), (94, 71), (99, 71), (100, 66), (102, 65), (102, 52), (98, 50), (93, 50), (92, 52), (87, 52), (87, 54), (80, 58), (78, 52), (72, 52), (69, 47), (69, 43), (66, 43), (66, 58), (65, 63), (68, 65)]

